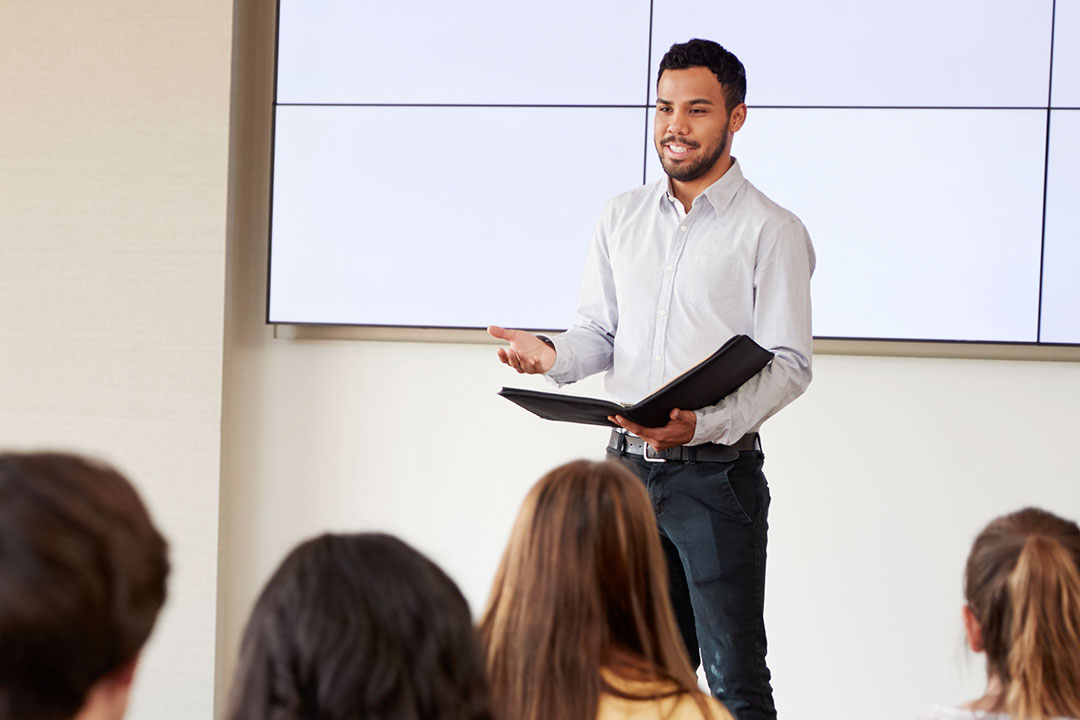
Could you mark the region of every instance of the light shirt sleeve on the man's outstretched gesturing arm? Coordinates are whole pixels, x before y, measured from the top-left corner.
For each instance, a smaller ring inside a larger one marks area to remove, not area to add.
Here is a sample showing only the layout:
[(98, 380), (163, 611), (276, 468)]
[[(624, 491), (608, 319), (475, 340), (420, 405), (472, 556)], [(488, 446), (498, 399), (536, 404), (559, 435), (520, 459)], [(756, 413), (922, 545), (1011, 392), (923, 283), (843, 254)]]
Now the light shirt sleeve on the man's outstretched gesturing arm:
[(555, 364), (545, 373), (556, 386), (577, 382), (611, 367), (615, 334), (619, 327), (619, 303), (611, 272), (611, 204), (604, 208), (585, 257), (578, 295), (578, 322), (566, 332), (550, 338)]

